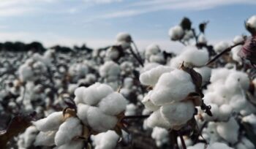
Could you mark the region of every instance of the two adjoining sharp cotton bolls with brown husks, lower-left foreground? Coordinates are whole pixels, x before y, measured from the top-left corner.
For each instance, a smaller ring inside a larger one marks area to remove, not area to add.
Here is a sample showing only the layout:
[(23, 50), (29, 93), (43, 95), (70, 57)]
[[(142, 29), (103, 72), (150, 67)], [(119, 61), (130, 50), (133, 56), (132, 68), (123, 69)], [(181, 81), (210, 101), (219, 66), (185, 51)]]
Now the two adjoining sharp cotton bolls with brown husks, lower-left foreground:
[(88, 88), (77, 88), (70, 107), (33, 122), (39, 130), (34, 145), (83, 148), (83, 140), (88, 140), (91, 134), (108, 130), (119, 133), (124, 129), (121, 121), (126, 104), (127, 100), (109, 85), (95, 83)]

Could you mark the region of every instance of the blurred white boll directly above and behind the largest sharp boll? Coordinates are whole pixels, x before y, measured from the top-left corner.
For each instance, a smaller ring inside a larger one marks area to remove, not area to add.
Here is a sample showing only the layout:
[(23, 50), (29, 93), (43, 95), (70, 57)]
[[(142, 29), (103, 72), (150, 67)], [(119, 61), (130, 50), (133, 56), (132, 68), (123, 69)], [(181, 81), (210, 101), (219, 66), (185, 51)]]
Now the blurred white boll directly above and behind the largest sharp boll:
[(179, 68), (182, 63), (184, 66), (203, 66), (208, 60), (207, 50), (198, 50), (197, 47), (187, 46), (184, 48), (184, 52), (170, 60), (170, 66)]

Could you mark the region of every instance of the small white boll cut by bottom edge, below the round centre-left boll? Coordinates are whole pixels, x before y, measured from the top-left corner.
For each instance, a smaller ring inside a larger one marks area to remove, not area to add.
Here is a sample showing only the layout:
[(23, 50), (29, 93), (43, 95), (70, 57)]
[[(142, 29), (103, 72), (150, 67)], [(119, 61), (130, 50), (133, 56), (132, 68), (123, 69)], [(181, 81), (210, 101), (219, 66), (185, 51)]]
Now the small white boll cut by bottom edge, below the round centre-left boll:
[(119, 136), (115, 131), (107, 131), (92, 136), (91, 139), (93, 140), (95, 149), (113, 149), (116, 147)]

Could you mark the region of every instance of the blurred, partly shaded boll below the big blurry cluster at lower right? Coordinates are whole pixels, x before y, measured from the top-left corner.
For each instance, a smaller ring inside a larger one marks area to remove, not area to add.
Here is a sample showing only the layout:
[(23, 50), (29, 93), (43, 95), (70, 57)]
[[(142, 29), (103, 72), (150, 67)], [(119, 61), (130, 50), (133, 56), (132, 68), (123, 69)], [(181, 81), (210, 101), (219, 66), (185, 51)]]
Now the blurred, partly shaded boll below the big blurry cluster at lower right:
[(238, 141), (238, 129), (239, 125), (233, 117), (228, 122), (219, 123), (217, 126), (219, 136), (231, 144)]

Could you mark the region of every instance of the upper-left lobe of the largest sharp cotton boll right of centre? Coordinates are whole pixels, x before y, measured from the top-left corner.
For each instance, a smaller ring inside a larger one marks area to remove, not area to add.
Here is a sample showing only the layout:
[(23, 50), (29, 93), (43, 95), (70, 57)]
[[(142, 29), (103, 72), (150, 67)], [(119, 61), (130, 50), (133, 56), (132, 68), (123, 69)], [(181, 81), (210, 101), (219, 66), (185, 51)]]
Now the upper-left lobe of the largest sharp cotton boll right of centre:
[(152, 85), (154, 86), (159, 77), (165, 73), (165, 72), (171, 72), (173, 69), (170, 68), (170, 66), (157, 66), (153, 69), (148, 70), (147, 72), (143, 72), (140, 75), (140, 82), (143, 83), (143, 85)]

